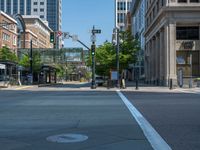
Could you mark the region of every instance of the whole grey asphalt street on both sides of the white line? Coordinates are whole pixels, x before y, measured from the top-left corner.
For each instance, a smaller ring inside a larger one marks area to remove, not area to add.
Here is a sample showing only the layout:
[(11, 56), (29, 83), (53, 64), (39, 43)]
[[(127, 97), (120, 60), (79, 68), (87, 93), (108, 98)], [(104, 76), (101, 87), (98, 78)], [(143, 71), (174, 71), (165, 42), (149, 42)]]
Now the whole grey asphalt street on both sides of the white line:
[[(153, 149), (151, 139), (143, 133), (116, 89), (91, 90), (88, 86), (0, 90), (3, 150)], [(127, 88), (121, 93), (171, 149), (199, 150), (200, 95), (160, 89), (153, 92), (153, 88)], [(69, 137), (71, 134), (83, 137), (82, 141)], [(55, 136), (59, 138), (52, 140)]]

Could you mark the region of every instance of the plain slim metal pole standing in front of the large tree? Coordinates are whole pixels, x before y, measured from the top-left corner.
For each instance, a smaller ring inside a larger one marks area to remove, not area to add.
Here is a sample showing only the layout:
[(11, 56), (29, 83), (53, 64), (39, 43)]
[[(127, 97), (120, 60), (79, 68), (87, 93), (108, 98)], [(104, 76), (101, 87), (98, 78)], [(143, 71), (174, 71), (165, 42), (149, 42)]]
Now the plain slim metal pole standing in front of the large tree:
[(117, 46), (116, 46), (116, 65), (117, 65), (117, 87), (120, 88), (119, 81), (119, 29), (116, 28)]

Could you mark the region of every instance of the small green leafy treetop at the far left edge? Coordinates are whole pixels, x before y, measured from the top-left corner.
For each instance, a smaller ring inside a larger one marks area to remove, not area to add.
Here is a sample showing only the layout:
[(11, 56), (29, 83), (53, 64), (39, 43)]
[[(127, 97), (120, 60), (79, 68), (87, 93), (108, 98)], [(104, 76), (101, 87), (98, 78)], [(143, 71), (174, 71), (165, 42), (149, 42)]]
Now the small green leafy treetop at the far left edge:
[(0, 60), (18, 62), (17, 55), (6, 46), (0, 49)]

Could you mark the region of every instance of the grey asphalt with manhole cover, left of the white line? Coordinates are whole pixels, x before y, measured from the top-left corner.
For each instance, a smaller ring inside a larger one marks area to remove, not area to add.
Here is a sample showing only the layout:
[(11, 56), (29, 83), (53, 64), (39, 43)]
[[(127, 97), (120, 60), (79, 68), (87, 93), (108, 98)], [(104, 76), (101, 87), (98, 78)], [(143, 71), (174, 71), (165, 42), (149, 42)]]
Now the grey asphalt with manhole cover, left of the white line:
[[(58, 143), (77, 138), (63, 134), (88, 139)], [(60, 135), (56, 142), (49, 141), (55, 135)], [(34, 89), (0, 91), (0, 149), (152, 150), (152, 147), (114, 91)]]

